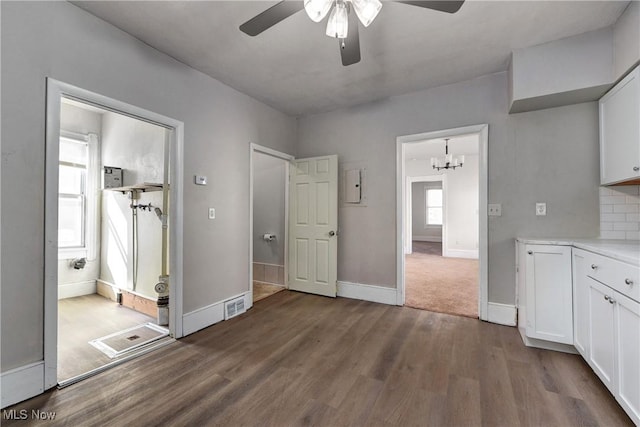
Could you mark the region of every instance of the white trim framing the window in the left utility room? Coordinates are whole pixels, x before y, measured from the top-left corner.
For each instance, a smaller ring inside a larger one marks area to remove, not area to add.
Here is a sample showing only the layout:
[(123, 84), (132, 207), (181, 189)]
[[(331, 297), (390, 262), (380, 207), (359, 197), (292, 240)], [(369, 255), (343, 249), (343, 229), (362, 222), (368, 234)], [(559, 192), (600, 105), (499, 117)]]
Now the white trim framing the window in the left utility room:
[(98, 135), (95, 133), (81, 134), (60, 130), (60, 138), (86, 142), (88, 148), (88, 162), (85, 188), (85, 229), (84, 247), (58, 248), (58, 259), (87, 258), (96, 259), (98, 252), (98, 201), (100, 200), (100, 150), (98, 149)]

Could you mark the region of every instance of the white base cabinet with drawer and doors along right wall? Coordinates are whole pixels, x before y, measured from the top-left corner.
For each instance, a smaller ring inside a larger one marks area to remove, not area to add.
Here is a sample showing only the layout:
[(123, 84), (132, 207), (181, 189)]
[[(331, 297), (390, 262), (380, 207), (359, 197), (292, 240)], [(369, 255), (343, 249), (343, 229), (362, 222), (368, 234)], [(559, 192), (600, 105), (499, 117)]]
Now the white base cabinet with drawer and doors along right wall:
[(573, 249), (574, 345), (640, 425), (640, 268)]

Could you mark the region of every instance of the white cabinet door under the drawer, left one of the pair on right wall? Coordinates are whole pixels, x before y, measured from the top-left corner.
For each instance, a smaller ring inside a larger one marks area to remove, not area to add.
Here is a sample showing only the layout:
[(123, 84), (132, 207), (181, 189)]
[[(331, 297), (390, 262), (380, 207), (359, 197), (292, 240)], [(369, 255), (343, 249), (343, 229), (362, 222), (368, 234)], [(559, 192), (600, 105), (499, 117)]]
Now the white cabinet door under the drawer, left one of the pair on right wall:
[(588, 277), (589, 283), (589, 357), (587, 362), (604, 385), (615, 393), (615, 304), (614, 291)]

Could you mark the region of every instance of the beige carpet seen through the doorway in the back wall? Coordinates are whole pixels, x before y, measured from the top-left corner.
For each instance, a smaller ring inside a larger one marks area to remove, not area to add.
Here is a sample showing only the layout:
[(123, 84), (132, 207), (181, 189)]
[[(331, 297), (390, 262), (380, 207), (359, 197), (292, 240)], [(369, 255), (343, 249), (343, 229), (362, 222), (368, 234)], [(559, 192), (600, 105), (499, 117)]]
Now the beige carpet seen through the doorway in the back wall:
[(441, 243), (413, 242), (413, 253), (405, 257), (405, 305), (478, 317), (478, 260), (441, 253)]

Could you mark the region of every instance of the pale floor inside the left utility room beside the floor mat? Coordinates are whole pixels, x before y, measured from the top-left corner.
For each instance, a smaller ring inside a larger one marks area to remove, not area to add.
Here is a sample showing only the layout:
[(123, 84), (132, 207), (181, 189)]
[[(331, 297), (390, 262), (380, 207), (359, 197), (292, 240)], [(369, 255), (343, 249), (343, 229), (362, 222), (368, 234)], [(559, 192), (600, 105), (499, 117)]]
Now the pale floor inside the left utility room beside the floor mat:
[(147, 322), (156, 320), (98, 294), (58, 301), (58, 381), (114, 360), (89, 341)]

